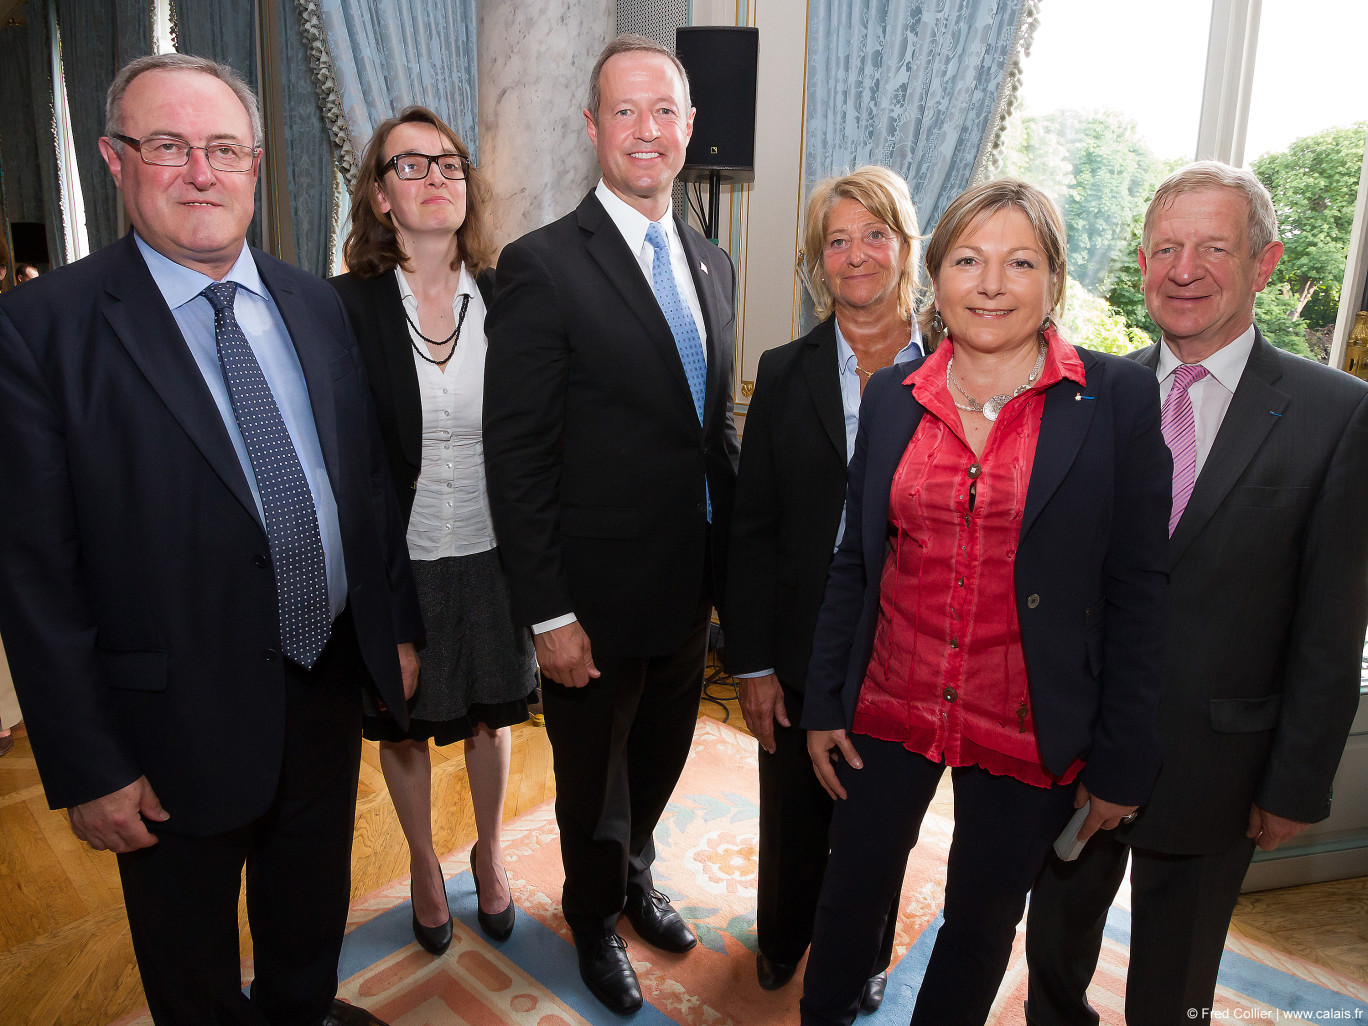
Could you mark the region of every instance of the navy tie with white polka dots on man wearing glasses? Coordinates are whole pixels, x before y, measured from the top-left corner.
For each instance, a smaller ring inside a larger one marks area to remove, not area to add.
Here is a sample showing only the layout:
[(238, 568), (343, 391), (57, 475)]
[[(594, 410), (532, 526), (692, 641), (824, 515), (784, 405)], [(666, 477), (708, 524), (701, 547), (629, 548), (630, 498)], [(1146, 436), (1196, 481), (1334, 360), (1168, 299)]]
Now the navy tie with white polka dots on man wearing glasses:
[(261, 494), (265, 536), (275, 566), (280, 650), (300, 666), (311, 668), (332, 629), (319, 514), (280, 408), (233, 315), (237, 291), (233, 282), (215, 282), (201, 295), (213, 306), (219, 367)]

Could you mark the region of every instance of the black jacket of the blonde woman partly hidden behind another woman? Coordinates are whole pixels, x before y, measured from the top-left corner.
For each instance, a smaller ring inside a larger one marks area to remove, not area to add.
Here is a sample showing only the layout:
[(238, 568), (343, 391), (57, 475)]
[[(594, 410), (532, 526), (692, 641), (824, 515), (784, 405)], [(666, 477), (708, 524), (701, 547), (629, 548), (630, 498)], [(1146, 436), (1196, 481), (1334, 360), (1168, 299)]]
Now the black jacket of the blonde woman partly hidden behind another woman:
[(803, 691), (845, 505), (836, 320), (767, 350), (746, 415), (728, 555), (726, 665)]

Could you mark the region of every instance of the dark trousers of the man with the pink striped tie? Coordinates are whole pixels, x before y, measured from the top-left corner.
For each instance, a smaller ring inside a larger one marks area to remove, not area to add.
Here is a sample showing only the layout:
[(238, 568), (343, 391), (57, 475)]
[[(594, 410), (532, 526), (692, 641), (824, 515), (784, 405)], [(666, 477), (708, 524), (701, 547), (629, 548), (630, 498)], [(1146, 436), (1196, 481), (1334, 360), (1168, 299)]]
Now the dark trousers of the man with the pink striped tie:
[(1130, 856), (1130, 963), (1126, 1022), (1171, 1026), (1207, 1022), (1230, 915), (1254, 854), (1239, 839), (1216, 855), (1164, 855), (1094, 836), (1075, 862), (1051, 855), (1026, 918), (1030, 967), (1026, 1021), (1033, 1026), (1092, 1026), (1088, 984)]

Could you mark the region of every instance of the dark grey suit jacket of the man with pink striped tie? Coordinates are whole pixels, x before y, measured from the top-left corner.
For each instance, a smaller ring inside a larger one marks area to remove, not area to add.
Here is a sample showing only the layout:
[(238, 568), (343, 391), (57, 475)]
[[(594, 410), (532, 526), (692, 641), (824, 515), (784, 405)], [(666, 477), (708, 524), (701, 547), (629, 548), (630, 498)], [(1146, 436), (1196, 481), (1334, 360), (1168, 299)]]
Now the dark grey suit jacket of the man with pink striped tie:
[[(1159, 347), (1135, 357), (1150, 372)], [(1368, 625), (1368, 386), (1256, 337), (1168, 546), (1166, 762), (1118, 836), (1223, 851), (1249, 807), (1316, 822)]]

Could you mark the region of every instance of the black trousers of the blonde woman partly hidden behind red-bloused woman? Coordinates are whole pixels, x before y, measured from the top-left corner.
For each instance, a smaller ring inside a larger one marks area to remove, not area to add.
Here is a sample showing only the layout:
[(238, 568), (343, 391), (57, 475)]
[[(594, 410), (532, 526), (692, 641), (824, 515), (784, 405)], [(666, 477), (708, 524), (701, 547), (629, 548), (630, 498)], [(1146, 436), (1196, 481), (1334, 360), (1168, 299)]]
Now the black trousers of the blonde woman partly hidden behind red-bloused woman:
[[(784, 688), (784, 709), (793, 726), (774, 724), (774, 754), (761, 748), (761, 865), (755, 934), (770, 962), (796, 966), (813, 943), (817, 896), (826, 874), (832, 798), (817, 781), (807, 755), (803, 694)], [(907, 860), (903, 860), (906, 870)], [(900, 877), (902, 878), (902, 877)], [(888, 908), (884, 940), (865, 975), (888, 969), (897, 933), (900, 888)]]

